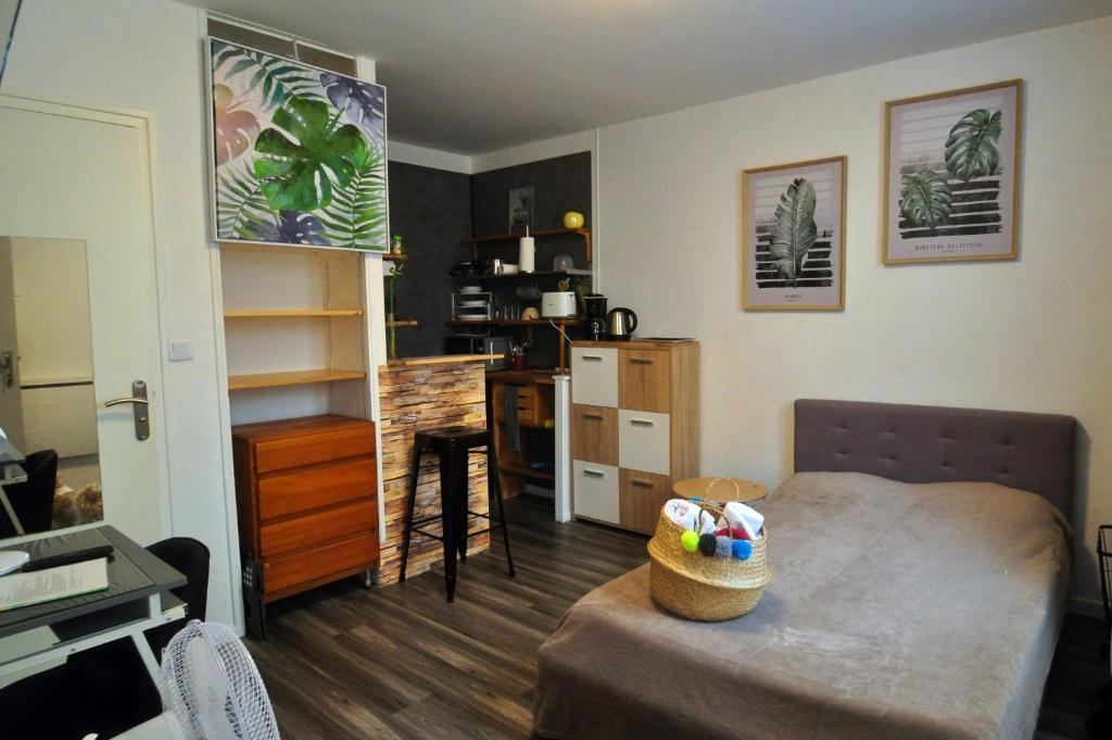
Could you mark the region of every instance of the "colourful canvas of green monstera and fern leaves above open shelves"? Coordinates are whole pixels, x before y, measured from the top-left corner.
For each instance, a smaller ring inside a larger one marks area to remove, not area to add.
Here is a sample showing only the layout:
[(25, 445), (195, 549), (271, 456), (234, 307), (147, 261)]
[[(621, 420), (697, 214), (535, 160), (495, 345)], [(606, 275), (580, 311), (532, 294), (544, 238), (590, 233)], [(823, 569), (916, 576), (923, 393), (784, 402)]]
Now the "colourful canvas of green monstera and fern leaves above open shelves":
[(214, 238), (387, 251), (386, 89), (209, 39)]

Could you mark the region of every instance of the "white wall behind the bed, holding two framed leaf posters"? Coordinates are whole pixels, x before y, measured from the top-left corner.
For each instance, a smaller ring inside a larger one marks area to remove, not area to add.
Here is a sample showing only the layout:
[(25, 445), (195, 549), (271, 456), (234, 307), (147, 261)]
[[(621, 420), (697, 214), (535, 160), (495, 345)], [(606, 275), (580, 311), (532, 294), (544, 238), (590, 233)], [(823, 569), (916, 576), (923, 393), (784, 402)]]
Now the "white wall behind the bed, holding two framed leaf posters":
[[(1058, 412), (1082, 428), (1075, 596), (1112, 522), (1112, 19), (600, 130), (603, 289), (644, 336), (703, 342), (703, 471), (778, 484), (798, 397)], [(738, 70), (744, 73), (744, 70)], [(884, 267), (885, 100), (1026, 80), (1020, 259)], [(739, 308), (739, 174), (848, 156), (846, 309)]]

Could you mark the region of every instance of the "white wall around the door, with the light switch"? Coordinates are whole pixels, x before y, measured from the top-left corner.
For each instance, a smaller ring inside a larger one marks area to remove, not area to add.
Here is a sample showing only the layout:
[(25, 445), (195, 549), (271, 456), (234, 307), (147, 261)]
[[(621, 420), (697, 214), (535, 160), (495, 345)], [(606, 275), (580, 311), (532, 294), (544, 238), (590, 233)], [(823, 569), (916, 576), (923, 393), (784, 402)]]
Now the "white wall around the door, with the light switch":
[(212, 552), (209, 619), (240, 621), (238, 539), (212, 314), (200, 13), (168, 0), (28, 0), (4, 86), (152, 111), (156, 239), (173, 534)]

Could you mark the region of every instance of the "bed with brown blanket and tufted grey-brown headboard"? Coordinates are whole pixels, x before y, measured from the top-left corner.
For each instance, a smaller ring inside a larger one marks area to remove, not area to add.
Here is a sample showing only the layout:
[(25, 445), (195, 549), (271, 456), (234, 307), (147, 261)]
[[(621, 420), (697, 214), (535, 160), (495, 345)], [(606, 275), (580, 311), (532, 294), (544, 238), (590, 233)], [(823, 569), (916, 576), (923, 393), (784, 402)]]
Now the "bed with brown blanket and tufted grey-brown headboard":
[(1065, 609), (1075, 422), (802, 399), (737, 620), (656, 606), (648, 565), (538, 652), (544, 738), (1031, 738)]

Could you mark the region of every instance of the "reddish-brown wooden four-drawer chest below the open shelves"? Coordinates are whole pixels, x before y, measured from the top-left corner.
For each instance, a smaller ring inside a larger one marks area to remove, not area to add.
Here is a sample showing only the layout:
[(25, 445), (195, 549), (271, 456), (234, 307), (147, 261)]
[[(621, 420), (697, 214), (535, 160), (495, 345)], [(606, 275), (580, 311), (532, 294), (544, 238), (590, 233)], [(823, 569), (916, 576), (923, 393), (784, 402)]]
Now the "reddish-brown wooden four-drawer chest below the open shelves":
[(239, 542), (264, 603), (378, 568), (374, 423), (307, 416), (231, 432)]

